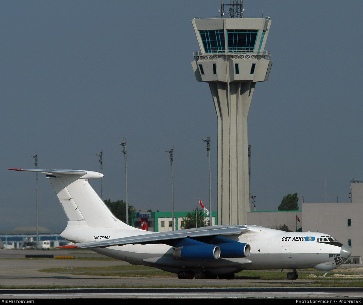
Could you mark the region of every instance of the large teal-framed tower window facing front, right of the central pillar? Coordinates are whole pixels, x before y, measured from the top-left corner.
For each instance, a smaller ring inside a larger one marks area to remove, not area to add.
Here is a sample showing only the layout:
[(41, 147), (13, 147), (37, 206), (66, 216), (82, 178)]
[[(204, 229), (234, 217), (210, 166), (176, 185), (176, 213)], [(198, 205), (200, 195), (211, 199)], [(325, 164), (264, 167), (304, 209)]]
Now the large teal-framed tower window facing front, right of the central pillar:
[(258, 30), (227, 30), (228, 52), (253, 52)]

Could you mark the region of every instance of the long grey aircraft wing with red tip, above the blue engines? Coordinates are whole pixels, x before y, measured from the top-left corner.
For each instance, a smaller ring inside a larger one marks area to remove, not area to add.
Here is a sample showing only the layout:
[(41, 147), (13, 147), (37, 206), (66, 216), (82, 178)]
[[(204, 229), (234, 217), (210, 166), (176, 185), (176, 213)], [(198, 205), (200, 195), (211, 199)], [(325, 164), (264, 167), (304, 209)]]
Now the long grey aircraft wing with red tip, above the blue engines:
[(110, 246), (123, 246), (126, 244), (168, 244), (172, 240), (213, 236), (239, 236), (250, 229), (245, 226), (220, 225), (203, 228), (185, 229), (180, 231), (156, 232), (151, 234), (128, 236), (123, 238), (102, 240), (96, 242), (77, 243), (59, 248), (106, 248)]

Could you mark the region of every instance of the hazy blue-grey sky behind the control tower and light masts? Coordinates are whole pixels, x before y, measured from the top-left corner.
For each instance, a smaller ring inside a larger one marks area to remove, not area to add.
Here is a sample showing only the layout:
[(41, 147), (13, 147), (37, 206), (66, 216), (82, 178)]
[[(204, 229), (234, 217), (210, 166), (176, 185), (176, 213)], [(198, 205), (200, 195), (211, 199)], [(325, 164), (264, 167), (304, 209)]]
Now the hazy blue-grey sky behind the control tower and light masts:
[[(199, 50), (191, 19), (217, 16), (220, 1), (1, 1), (0, 229), (35, 224), (35, 174), (5, 168), (99, 171), (105, 199), (168, 211), (169, 150), (175, 145), (175, 206), (208, 202), (211, 132), (216, 206), (217, 119), (209, 87), (193, 75)], [(252, 194), (276, 210), (297, 192), (305, 202), (347, 202), (363, 180), (362, 1), (244, 1), (245, 16), (271, 17), (274, 62), (248, 117)], [(101, 181), (91, 181), (101, 192)], [(66, 217), (39, 176), (40, 225)], [(301, 203), (299, 202), (301, 207)]]

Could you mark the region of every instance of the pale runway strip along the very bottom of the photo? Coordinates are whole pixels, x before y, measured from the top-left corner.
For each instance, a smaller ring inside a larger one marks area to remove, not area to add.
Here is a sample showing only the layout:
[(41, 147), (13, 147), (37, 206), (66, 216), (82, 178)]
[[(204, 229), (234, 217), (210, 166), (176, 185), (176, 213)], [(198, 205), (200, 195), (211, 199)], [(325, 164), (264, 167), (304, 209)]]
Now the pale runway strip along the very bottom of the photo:
[(361, 298), (362, 288), (114, 288), (2, 290), (2, 298)]

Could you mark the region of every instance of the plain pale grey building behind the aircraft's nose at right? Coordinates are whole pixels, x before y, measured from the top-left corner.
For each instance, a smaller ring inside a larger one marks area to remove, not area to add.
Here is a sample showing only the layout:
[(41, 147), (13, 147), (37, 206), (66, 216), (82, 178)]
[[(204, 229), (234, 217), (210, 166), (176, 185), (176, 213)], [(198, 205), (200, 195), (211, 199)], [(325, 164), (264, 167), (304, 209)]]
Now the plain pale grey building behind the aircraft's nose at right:
[[(333, 236), (352, 252), (352, 263), (363, 256), (363, 182), (351, 181), (351, 202), (302, 203), (301, 211), (255, 211), (247, 213), (247, 223), (263, 227), (286, 224), (296, 230), (296, 215), (302, 231), (322, 232)], [(322, 234), (322, 236), (324, 235)]]

